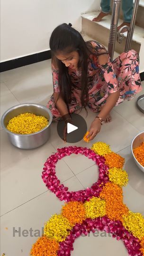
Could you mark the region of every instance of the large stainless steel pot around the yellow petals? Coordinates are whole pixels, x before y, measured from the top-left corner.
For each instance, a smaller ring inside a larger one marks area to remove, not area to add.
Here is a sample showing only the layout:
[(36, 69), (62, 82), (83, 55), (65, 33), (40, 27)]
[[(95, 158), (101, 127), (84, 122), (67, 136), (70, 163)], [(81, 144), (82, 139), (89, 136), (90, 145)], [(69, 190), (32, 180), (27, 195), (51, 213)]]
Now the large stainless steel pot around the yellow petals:
[[(31, 134), (17, 134), (10, 132), (6, 127), (9, 123), (9, 119), (18, 116), (22, 113), (34, 113), (38, 116), (44, 116), (48, 119), (48, 125), (42, 130)], [(45, 144), (50, 137), (50, 125), (52, 123), (52, 114), (49, 109), (39, 104), (24, 103), (16, 105), (7, 110), (1, 117), (1, 126), (7, 132), (10, 142), (19, 148), (32, 149)]]

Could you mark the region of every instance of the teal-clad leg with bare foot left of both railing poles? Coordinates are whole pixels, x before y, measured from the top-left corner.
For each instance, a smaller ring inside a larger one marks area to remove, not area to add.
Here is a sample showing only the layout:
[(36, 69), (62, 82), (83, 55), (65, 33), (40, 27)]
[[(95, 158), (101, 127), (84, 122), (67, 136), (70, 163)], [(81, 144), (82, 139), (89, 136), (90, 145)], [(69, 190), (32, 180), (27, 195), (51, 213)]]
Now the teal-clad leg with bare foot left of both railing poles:
[(101, 0), (100, 2), (101, 12), (98, 17), (93, 18), (93, 21), (100, 21), (102, 18), (107, 16), (110, 12), (110, 0)]

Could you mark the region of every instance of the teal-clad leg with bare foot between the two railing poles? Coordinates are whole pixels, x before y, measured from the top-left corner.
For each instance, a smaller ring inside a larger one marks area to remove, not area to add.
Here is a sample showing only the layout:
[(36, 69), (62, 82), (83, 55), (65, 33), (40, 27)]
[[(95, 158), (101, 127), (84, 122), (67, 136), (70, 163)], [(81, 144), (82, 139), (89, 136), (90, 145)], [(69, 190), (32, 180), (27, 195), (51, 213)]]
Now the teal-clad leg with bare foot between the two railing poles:
[[(128, 26), (130, 27), (130, 22), (132, 19), (132, 14), (133, 14), (133, 0), (122, 0), (122, 11), (123, 11), (123, 16), (124, 16), (124, 22), (117, 27), (119, 30), (123, 26)], [(122, 33), (126, 32), (126, 28), (122, 30)]]

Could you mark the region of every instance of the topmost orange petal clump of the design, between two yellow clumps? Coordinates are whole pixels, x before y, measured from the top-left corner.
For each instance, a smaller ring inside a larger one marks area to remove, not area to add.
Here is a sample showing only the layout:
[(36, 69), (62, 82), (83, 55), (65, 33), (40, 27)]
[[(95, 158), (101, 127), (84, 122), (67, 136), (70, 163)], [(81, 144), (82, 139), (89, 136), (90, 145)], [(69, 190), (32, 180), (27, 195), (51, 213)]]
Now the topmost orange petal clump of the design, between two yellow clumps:
[(105, 165), (108, 165), (109, 168), (122, 168), (125, 163), (125, 159), (114, 152), (111, 152), (104, 157), (106, 159)]

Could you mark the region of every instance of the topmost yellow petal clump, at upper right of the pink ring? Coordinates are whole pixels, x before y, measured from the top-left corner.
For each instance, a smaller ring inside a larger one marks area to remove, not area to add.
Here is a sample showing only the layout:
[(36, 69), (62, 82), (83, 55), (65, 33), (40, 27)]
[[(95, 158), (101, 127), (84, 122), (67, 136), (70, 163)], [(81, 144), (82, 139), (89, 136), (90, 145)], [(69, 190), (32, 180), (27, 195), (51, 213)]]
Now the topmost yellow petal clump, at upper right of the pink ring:
[(104, 142), (96, 142), (92, 145), (91, 150), (93, 150), (98, 155), (107, 155), (111, 152), (109, 145)]

